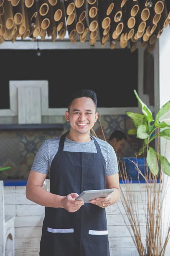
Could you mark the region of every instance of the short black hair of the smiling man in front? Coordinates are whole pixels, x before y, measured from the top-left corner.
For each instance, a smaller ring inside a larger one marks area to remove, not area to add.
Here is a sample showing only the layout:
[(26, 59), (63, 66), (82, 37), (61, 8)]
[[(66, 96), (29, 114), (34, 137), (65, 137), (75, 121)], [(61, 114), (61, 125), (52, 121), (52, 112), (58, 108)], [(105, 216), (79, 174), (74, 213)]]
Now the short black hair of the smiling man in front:
[(74, 101), (74, 99), (78, 99), (78, 98), (82, 98), (82, 97), (91, 98), (94, 102), (95, 107), (97, 108), (96, 93), (93, 90), (80, 89), (80, 90), (77, 90), (77, 91), (74, 91), (73, 93), (71, 93), (69, 100), (68, 100), (68, 112), (70, 111), (70, 106), (71, 106), (71, 103)]

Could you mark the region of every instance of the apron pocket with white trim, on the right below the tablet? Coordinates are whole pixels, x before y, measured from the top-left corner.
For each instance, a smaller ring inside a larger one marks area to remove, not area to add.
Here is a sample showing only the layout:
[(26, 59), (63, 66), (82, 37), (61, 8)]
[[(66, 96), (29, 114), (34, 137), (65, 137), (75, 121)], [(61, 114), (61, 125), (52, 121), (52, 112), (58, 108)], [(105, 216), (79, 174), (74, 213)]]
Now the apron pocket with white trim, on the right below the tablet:
[(88, 256), (108, 256), (108, 230), (88, 231)]

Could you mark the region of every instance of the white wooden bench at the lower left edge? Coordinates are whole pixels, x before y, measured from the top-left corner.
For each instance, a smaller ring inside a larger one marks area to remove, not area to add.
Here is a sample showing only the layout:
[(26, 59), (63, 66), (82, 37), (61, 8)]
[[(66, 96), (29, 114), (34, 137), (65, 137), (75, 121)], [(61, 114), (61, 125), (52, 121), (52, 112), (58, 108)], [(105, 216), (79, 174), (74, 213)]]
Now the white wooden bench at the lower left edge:
[(0, 180), (0, 256), (14, 256), (14, 218), (4, 213), (3, 180)]

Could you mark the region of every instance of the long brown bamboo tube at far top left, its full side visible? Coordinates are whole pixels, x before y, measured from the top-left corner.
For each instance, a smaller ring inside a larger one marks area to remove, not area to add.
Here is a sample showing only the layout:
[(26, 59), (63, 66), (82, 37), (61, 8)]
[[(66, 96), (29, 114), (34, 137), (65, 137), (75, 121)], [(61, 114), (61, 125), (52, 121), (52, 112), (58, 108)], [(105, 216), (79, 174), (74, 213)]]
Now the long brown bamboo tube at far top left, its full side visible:
[(4, 20), (5, 20), (6, 28), (11, 29), (14, 26), (14, 18), (13, 18), (13, 11), (12, 11), (11, 3), (9, 1), (4, 1), (3, 8), (5, 10)]

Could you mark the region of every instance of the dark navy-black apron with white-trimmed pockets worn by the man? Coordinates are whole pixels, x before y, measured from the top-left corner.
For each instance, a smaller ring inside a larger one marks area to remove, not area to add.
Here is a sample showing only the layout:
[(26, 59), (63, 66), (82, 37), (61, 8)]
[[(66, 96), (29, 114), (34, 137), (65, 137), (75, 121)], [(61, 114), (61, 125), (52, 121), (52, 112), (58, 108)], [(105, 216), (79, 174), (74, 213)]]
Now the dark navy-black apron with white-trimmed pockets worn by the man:
[[(67, 132), (68, 133), (68, 132)], [(65, 136), (50, 168), (50, 192), (67, 196), (105, 189), (106, 163), (97, 153), (63, 151)], [(45, 207), (40, 256), (110, 256), (105, 208), (86, 203), (77, 212)]]

